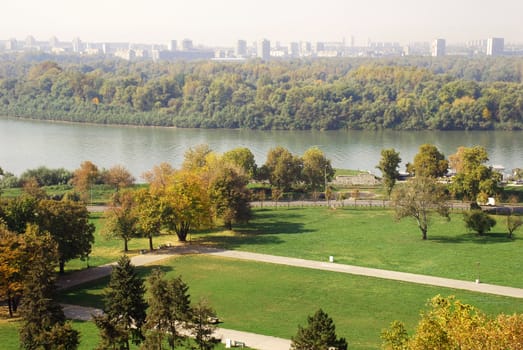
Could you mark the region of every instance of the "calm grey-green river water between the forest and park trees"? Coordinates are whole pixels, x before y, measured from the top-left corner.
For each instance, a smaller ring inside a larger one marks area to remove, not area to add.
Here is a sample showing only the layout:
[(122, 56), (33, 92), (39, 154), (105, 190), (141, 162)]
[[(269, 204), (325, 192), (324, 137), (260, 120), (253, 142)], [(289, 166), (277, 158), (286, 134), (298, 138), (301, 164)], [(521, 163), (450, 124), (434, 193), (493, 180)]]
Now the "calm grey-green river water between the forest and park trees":
[(265, 162), (267, 151), (277, 145), (299, 155), (318, 146), (334, 167), (372, 172), (376, 172), (383, 148), (394, 147), (406, 163), (423, 143), (436, 145), (446, 156), (455, 153), (458, 146), (482, 145), (489, 153), (490, 164), (503, 165), (507, 171), (523, 167), (523, 132), (204, 130), (0, 118), (0, 167), (15, 175), (41, 165), (73, 170), (90, 160), (104, 168), (122, 164), (139, 178), (164, 161), (178, 167), (184, 152), (202, 143), (220, 153), (248, 147), (259, 165)]

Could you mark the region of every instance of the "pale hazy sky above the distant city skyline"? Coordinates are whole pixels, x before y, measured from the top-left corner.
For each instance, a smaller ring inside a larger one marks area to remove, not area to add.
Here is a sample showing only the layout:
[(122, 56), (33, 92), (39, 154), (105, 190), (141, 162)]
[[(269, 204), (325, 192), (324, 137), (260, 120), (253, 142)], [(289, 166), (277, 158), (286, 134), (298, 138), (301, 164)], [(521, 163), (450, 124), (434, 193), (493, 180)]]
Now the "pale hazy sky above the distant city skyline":
[(0, 39), (523, 42), (523, 0), (5, 0)]

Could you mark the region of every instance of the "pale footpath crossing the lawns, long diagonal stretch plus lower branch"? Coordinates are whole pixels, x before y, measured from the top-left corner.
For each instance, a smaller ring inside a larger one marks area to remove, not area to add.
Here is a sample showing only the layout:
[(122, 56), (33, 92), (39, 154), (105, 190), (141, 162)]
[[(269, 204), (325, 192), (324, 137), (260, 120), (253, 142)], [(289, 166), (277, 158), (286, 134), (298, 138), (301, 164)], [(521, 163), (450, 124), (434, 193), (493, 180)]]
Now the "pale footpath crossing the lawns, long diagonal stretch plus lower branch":
[[(270, 264), (333, 271), (352, 275), (368, 276), (452, 289), (468, 290), (477, 293), (487, 293), (513, 298), (523, 298), (523, 289), (520, 288), (461, 281), (427, 275), (417, 275), (406, 272), (380, 270), (354, 265), (344, 265), (335, 262), (313, 261), (298, 258), (289, 258), (284, 256), (250, 253), (244, 251), (223, 250), (203, 246), (187, 245), (169, 247), (157, 250), (154, 253), (147, 253), (134, 256), (131, 258), (131, 262), (135, 266), (151, 265), (161, 260), (168, 259), (173, 255), (180, 254), (207, 254), (211, 256), (219, 256), (231, 259), (259, 261)], [(83, 283), (94, 281), (96, 279), (108, 276), (111, 274), (112, 266), (115, 264), (116, 263), (111, 263), (99, 267), (92, 267), (62, 276), (58, 279), (57, 286), (59, 289), (69, 289), (81, 285)], [(102, 312), (101, 310), (85, 308), (77, 305), (64, 304), (63, 306), (66, 316), (71, 319), (89, 320), (91, 315)], [(225, 343), (226, 339), (232, 339), (236, 341), (241, 341), (250, 348), (260, 350), (288, 350), (290, 348), (290, 340), (287, 339), (270, 337), (255, 333), (240, 332), (224, 328), (217, 329), (215, 336), (221, 339), (223, 343)]]

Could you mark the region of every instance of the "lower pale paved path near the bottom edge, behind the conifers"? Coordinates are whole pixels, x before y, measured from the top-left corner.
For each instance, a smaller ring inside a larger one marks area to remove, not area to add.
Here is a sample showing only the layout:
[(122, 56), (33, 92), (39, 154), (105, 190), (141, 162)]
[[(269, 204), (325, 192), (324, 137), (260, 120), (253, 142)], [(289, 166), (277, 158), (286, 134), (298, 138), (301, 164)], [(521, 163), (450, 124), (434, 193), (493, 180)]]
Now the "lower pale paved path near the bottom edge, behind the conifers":
[[(61, 305), (64, 310), (65, 317), (72, 320), (90, 321), (93, 315), (103, 314), (102, 310), (92, 307), (71, 304)], [(260, 350), (289, 350), (291, 346), (291, 341), (287, 339), (256, 333), (235, 331), (226, 328), (216, 328), (214, 337), (220, 339), (224, 344), (227, 339), (230, 339), (232, 341), (241, 341), (245, 344), (245, 346)]]

